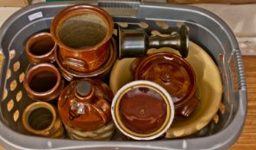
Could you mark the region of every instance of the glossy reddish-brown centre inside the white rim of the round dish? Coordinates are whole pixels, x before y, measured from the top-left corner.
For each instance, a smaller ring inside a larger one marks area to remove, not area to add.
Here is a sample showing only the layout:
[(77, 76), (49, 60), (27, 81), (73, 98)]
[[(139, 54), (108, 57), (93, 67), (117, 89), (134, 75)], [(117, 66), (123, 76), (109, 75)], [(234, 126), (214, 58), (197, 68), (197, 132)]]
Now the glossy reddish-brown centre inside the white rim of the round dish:
[(153, 89), (137, 87), (122, 96), (120, 112), (126, 128), (136, 133), (150, 134), (165, 122), (166, 104)]

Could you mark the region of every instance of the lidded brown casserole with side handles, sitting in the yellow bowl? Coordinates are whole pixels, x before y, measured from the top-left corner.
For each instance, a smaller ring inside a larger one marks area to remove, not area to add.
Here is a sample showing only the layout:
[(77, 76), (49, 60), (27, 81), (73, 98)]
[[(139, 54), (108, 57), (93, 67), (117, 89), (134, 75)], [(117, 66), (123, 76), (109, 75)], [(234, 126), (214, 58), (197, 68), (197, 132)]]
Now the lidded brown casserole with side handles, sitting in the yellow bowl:
[(184, 58), (176, 54), (161, 52), (136, 60), (135, 80), (147, 80), (158, 83), (171, 94), (175, 114), (189, 117), (197, 108), (199, 99), (195, 96), (196, 75)]

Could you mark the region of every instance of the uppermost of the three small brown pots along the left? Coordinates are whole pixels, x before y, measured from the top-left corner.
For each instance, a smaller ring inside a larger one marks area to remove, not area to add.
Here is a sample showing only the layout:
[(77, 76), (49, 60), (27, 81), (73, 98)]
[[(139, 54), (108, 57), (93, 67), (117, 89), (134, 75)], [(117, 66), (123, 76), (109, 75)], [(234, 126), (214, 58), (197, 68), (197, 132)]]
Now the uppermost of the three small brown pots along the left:
[(26, 43), (26, 53), (30, 63), (53, 63), (57, 45), (50, 33), (37, 33)]

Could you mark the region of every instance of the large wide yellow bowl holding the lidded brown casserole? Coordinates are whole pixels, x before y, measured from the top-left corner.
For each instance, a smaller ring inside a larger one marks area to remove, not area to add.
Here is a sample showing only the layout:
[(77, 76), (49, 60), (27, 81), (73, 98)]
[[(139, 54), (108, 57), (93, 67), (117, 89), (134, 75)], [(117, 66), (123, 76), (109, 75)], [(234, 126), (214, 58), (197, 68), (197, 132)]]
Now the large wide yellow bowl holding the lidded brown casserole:
[[(196, 133), (203, 129), (215, 116), (222, 101), (222, 81), (220, 72), (211, 57), (198, 45), (190, 42), (189, 55), (185, 59), (194, 69), (197, 78), (196, 96), (200, 104), (190, 117), (176, 117), (172, 127), (167, 130), (166, 138), (177, 138)], [(178, 51), (172, 48), (150, 49), (147, 54)], [(130, 65), (135, 58), (117, 60), (110, 74), (109, 86), (114, 93), (133, 80)]]

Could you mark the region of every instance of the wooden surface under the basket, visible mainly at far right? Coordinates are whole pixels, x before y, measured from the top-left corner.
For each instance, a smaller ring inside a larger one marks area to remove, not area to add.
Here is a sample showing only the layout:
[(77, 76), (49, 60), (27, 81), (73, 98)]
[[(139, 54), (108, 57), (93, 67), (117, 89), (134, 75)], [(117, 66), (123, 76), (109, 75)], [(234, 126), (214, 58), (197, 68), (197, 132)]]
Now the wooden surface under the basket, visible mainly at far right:
[[(0, 68), (3, 57), (0, 54)], [(248, 111), (245, 127), (232, 150), (256, 149), (256, 56), (243, 56), (247, 79)], [(0, 146), (0, 150), (2, 150)]]

